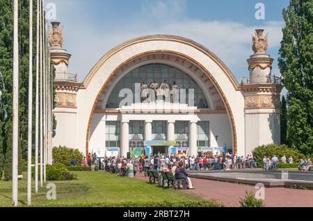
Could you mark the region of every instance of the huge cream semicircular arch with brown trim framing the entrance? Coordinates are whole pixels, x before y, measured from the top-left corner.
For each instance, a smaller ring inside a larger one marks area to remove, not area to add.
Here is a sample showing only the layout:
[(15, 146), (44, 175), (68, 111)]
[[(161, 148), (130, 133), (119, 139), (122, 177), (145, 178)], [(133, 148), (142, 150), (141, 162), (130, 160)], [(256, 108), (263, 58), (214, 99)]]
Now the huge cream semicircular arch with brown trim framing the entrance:
[(190, 39), (168, 35), (132, 39), (113, 48), (97, 62), (77, 91), (77, 148), (86, 153), (90, 150), (90, 136), (101, 121), (101, 114), (96, 113), (99, 98), (106, 91), (109, 93), (110, 86), (131, 69), (153, 62), (170, 64), (193, 76), (204, 93), (211, 94), (207, 98), (211, 112), (218, 112), (218, 98), (215, 103), (211, 100), (212, 93), (218, 93), (230, 122), (232, 146), (237, 154), (245, 154), (244, 97), (233, 74), (204, 46)]

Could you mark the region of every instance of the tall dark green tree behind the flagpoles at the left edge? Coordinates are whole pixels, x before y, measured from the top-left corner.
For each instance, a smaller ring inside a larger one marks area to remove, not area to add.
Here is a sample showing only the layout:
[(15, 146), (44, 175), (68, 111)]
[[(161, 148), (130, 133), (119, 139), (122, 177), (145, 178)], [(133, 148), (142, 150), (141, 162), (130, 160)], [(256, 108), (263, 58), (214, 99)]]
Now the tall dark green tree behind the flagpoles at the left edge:
[[(37, 1), (33, 1), (33, 60), (36, 51)], [(1, 89), (3, 105), (8, 118), (3, 120), (0, 109), (0, 179), (11, 179), (12, 170), (12, 116), (13, 116), (13, 1), (0, 0), (0, 70), (6, 89)], [(35, 65), (33, 65), (33, 101), (35, 101)], [(29, 86), (29, 0), (19, 0), (19, 173), (22, 159), (27, 159)], [(54, 129), (56, 124), (54, 122)], [(35, 128), (35, 102), (33, 102)], [(35, 143), (35, 130), (33, 130)], [(34, 150), (33, 145), (33, 150)], [(4, 174), (3, 174), (4, 172)]]

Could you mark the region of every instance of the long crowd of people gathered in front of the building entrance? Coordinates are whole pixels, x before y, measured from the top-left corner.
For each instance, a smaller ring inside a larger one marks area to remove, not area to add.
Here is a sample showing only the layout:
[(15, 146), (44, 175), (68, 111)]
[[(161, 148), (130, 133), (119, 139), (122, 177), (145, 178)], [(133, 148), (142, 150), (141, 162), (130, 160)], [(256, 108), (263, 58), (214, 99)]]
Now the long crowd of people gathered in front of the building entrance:
[[(90, 166), (93, 170), (99, 166), (99, 170), (110, 168), (109, 171), (113, 173), (123, 174), (127, 171), (136, 173), (146, 173), (147, 170), (172, 170), (172, 167), (182, 161), (185, 170), (200, 171), (200, 170), (234, 170), (244, 168), (257, 168), (257, 158), (252, 154), (246, 157), (239, 157), (236, 154), (227, 152), (227, 154), (219, 154), (218, 152), (213, 155), (211, 152), (203, 153), (201, 156), (184, 157), (177, 155), (154, 154), (154, 157), (134, 157), (126, 159), (125, 157), (105, 157), (100, 159), (96, 153), (88, 154), (83, 158), (81, 166)], [(278, 163), (294, 163), (293, 157), (284, 155), (278, 159), (275, 155), (273, 157), (264, 156), (263, 160), (264, 170), (277, 170)], [(306, 165), (307, 160), (301, 159), (300, 166)], [(72, 166), (76, 166), (75, 159), (71, 161)], [(128, 173), (127, 173), (128, 174)]]

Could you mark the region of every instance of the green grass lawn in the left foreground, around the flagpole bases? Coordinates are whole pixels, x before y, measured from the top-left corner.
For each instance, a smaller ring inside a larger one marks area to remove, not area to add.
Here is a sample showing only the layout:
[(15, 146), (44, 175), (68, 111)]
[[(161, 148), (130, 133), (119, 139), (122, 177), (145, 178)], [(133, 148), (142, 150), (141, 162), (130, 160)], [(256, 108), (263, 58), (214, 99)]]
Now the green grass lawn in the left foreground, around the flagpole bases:
[[(56, 184), (56, 200), (47, 200), (48, 183)], [(19, 206), (26, 206), (26, 173), (19, 181)], [(12, 182), (0, 181), (0, 206), (11, 205)], [(215, 202), (162, 188), (145, 181), (103, 172), (77, 172), (77, 179), (47, 182), (33, 194), (33, 206), (218, 206)]]

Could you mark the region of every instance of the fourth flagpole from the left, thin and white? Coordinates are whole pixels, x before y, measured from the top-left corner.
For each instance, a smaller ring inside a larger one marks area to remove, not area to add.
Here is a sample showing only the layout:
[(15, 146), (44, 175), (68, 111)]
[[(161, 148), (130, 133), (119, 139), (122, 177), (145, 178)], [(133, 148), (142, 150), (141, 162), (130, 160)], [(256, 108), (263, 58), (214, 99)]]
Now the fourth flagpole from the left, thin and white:
[(43, 105), (42, 105), (42, 0), (40, 0), (40, 186), (43, 187), (43, 170), (42, 170), (42, 165), (43, 165), (43, 157), (42, 157), (42, 152), (43, 152), (43, 126), (42, 126), (42, 114), (43, 114)]

